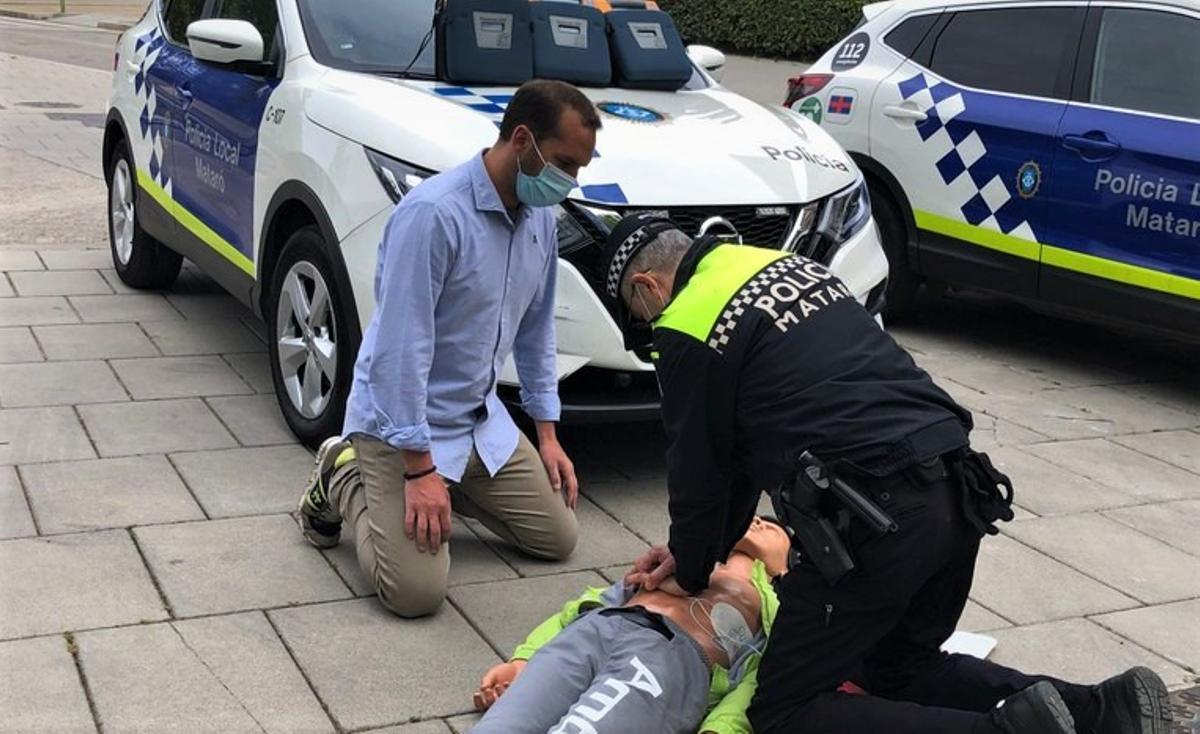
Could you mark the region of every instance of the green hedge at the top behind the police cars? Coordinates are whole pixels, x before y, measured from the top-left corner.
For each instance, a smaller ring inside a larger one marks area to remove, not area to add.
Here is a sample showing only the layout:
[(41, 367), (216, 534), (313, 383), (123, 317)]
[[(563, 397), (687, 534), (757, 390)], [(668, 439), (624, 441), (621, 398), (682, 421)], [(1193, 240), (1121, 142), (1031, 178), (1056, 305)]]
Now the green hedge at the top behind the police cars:
[(659, 0), (689, 43), (816, 60), (863, 18), (865, 0)]

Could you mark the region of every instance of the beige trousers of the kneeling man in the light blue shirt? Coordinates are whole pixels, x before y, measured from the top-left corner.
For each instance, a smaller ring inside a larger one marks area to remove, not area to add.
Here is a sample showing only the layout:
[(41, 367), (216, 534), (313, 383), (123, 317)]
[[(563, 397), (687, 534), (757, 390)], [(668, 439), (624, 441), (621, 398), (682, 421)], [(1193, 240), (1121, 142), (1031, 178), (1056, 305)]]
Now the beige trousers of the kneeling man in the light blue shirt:
[[(446, 595), (450, 549), (421, 553), (404, 534), (403, 455), (368, 437), (350, 443), (356, 458), (334, 473), (330, 499), (354, 529), (359, 566), (396, 614), (433, 614)], [(550, 486), (538, 450), (523, 434), (496, 476), (473, 451), (462, 481), (450, 483), (450, 501), (456, 513), (480, 521), (534, 558), (562, 560), (575, 549), (575, 513)]]

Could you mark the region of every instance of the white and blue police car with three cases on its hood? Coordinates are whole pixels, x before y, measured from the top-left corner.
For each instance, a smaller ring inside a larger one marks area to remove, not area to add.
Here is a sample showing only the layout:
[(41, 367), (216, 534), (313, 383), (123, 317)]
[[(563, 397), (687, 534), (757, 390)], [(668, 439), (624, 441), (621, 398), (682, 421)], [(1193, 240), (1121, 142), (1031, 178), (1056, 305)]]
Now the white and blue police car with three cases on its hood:
[[(612, 11), (625, 12), (640, 11)], [(492, 34), (494, 13), (479, 17)], [(307, 440), (341, 428), (395, 203), (490, 145), (515, 89), (439, 80), (452, 52), (433, 19), (433, 0), (155, 0), (118, 44), (103, 142), (116, 270), (163, 288), (182, 255), (260, 313), (280, 404)], [(719, 52), (692, 47), (694, 64), (678, 48), (676, 91), (584, 90), (605, 128), (558, 211), (558, 368), (577, 416), (656, 410), (652, 366), (598, 296), (599, 243), (630, 210), (812, 253), (864, 302), (882, 296), (887, 260), (845, 151), (722, 89), (701, 70), (718, 73)]]

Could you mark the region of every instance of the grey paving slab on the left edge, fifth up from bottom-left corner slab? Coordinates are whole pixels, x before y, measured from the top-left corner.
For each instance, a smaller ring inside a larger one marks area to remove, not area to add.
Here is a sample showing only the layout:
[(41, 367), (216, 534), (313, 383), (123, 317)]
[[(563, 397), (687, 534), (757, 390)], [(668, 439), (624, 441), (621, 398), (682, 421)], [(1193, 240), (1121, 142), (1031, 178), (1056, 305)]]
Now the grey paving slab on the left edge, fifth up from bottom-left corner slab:
[(0, 365), (0, 405), (79, 405), (130, 399), (101, 361)]

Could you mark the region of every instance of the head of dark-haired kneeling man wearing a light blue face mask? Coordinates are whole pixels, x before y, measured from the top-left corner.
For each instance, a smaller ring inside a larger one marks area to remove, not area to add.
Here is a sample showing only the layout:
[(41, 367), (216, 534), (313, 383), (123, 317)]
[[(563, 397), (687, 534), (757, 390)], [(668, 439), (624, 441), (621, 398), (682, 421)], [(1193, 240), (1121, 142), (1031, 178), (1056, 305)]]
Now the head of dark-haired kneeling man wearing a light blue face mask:
[(522, 84), (486, 157), (504, 205), (552, 206), (565, 199), (580, 169), (592, 162), (600, 125), (595, 106), (570, 84)]

